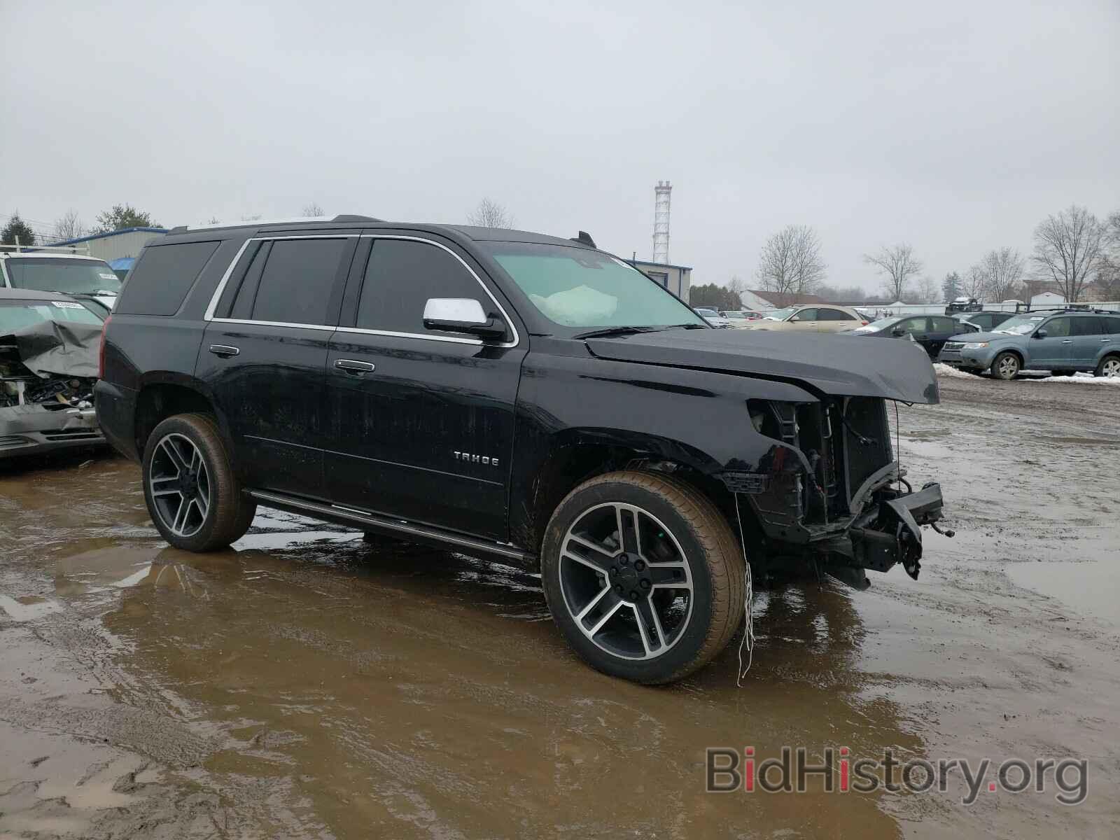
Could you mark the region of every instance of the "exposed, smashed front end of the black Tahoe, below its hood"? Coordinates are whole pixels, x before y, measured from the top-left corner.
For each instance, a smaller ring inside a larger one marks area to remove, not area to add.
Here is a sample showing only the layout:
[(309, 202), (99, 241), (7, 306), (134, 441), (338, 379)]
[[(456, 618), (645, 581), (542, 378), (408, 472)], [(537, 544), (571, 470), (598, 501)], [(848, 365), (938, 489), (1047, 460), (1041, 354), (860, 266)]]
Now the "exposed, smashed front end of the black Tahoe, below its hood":
[(746, 498), (774, 553), (815, 560), (858, 589), (864, 570), (900, 563), (917, 578), (922, 525), (942, 515), (941, 487), (914, 491), (895, 459), (886, 401), (825, 396), (820, 402), (752, 400), (752, 423), (775, 445), (750, 473), (724, 475)]

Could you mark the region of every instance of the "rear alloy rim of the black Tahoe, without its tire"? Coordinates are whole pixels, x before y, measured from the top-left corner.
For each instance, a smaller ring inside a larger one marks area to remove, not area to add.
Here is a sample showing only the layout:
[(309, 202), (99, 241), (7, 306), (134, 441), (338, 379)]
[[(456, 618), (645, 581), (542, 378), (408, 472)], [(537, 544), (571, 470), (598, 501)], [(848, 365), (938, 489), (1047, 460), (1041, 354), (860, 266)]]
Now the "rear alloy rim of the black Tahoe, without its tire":
[(192, 536), (206, 522), (211, 482), (198, 447), (185, 435), (166, 435), (156, 445), (148, 470), (156, 513), (178, 536)]

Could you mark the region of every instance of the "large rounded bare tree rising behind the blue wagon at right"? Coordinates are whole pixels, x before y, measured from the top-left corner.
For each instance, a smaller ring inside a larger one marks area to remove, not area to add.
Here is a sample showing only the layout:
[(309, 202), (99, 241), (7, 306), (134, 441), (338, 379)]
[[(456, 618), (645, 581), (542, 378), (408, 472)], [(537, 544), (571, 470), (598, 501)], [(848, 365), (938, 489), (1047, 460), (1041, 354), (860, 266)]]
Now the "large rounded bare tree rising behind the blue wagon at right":
[(1100, 268), (1107, 244), (1105, 225), (1085, 207), (1072, 204), (1035, 228), (1030, 256), (1035, 277), (1052, 283), (1073, 304)]

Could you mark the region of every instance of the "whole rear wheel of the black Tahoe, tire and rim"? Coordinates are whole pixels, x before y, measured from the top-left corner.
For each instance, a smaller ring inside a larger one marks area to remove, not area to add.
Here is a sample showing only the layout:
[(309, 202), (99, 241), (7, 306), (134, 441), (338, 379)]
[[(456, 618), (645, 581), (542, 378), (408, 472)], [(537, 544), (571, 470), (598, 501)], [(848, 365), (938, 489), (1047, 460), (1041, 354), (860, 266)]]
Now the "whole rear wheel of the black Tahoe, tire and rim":
[[(189, 469), (186, 454), (194, 452), (200, 466)], [(176, 460), (176, 454), (180, 460)], [(230, 450), (211, 414), (176, 414), (159, 423), (144, 446), (142, 469), (151, 521), (177, 549), (224, 549), (244, 536), (253, 522), (256, 503), (242, 491), (230, 463)], [(171, 469), (176, 476), (167, 477)], [(159, 498), (153, 484), (160, 487)], [(200, 502), (190, 504), (204, 495), (205, 512)], [(187, 511), (183, 514), (184, 526), (177, 529), (183, 510), (179, 505), (187, 505)]]

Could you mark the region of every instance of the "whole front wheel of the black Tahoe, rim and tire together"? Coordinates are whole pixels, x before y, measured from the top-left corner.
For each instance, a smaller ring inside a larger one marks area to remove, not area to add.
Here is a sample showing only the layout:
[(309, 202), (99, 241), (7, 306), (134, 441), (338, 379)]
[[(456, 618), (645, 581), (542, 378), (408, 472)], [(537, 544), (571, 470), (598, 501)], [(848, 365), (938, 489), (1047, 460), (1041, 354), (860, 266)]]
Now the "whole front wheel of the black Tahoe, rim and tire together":
[(572, 491), (541, 558), (552, 617), (592, 668), (641, 683), (708, 663), (743, 620), (743, 551), (706, 497), (672, 477), (620, 472)]

